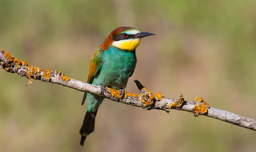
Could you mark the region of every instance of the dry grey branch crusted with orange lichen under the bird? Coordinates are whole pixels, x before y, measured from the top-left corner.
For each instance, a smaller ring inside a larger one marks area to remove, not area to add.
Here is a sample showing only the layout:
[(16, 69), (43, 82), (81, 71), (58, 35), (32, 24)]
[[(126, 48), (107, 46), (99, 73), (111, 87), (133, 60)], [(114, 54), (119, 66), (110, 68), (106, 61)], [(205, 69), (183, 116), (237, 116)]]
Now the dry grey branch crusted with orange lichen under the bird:
[(167, 112), (170, 109), (183, 110), (192, 112), (195, 116), (204, 115), (245, 127), (246, 129), (256, 130), (256, 120), (214, 108), (204, 102), (203, 98), (196, 98), (195, 101), (185, 101), (182, 94), (180, 94), (180, 98), (178, 99), (164, 98), (160, 92), (158, 94), (154, 94), (153, 92), (145, 89), (138, 80), (135, 80), (135, 82), (142, 94), (125, 92), (125, 97), (121, 99), (120, 92), (118, 90), (106, 87), (102, 94), (99, 86), (87, 84), (80, 80), (69, 79), (69, 77), (66, 77), (62, 72), (52, 72), (50, 70), (43, 70), (41, 68), (30, 66), (26, 61), (20, 61), (17, 58), (13, 58), (13, 56), (8, 52), (5, 53), (3, 49), (0, 51), (0, 66), (2, 66), (7, 72), (17, 73), (21, 77), (27, 77), (29, 81), (28, 84), (33, 82), (32, 79), (51, 82), (53, 84), (70, 87), (78, 91), (104, 96), (105, 98), (125, 103), (127, 105), (145, 108), (146, 110), (157, 109)]

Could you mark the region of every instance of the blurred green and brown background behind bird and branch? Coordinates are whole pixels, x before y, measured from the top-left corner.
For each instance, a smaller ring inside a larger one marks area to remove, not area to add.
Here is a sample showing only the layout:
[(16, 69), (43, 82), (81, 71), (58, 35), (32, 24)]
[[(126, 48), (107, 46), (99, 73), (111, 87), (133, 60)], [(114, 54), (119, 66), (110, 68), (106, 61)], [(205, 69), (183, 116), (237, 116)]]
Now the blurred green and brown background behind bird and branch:
[[(256, 1), (0, 0), (0, 47), (32, 66), (87, 80), (97, 47), (120, 26), (141, 41), (132, 80), (256, 118)], [(0, 151), (255, 151), (256, 132), (171, 110), (105, 100), (81, 147), (83, 92), (0, 70)]]

